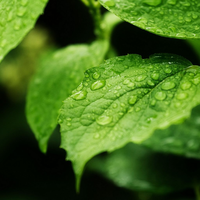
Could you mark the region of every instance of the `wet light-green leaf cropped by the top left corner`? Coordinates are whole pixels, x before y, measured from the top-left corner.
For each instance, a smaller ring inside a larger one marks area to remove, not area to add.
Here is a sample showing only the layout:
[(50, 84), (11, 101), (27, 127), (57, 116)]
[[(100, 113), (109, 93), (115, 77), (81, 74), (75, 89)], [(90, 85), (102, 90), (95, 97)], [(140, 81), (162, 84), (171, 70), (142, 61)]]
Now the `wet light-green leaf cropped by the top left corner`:
[(0, 1), (0, 61), (30, 31), (48, 0)]

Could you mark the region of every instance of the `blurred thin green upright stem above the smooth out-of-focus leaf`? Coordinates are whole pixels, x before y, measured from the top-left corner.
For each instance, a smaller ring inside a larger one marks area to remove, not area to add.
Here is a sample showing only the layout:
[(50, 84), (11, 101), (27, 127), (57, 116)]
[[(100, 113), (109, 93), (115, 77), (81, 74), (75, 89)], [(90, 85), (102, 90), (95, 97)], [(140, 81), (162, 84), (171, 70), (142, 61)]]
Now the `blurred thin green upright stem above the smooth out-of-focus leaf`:
[(102, 16), (100, 11), (100, 3), (95, 0), (81, 0), (88, 8), (94, 21), (94, 33), (98, 39), (105, 38), (104, 31), (101, 27)]

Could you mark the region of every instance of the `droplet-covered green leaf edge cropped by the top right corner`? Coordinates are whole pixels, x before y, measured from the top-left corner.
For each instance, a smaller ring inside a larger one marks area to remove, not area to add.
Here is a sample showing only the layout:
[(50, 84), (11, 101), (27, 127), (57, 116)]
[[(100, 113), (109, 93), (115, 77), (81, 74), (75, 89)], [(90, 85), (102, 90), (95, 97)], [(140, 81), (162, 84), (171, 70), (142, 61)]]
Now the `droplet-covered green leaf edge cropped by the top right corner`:
[(173, 38), (200, 38), (198, 0), (99, 0), (123, 20)]

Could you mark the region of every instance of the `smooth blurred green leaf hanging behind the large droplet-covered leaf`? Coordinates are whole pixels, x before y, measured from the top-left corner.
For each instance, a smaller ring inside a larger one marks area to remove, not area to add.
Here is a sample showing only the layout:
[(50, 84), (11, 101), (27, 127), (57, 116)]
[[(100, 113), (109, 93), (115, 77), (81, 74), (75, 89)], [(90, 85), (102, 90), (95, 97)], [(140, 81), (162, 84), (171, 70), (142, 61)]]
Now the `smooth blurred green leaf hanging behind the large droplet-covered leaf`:
[(107, 49), (107, 41), (71, 45), (39, 63), (28, 90), (26, 113), (42, 152), (46, 152), (48, 139), (57, 125), (62, 101), (80, 84), (86, 69), (103, 61)]

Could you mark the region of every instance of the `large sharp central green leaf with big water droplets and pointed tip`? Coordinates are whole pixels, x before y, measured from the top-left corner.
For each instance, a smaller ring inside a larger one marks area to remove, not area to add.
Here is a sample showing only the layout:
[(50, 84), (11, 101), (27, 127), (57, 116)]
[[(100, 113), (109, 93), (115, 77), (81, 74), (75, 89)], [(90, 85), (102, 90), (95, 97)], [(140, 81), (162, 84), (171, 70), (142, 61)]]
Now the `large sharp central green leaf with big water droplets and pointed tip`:
[(87, 70), (82, 85), (59, 115), (61, 147), (78, 182), (93, 156), (142, 143), (156, 129), (188, 118), (200, 104), (200, 67), (175, 55), (111, 58)]

